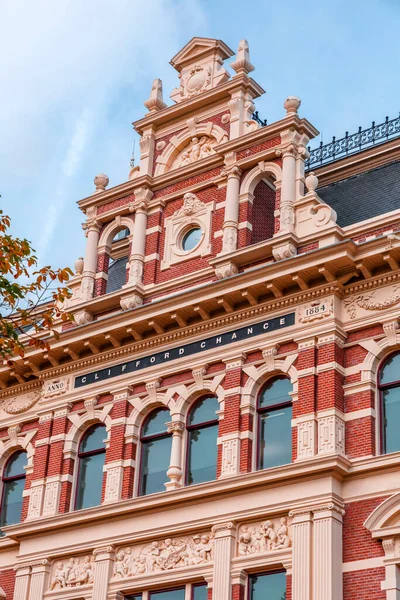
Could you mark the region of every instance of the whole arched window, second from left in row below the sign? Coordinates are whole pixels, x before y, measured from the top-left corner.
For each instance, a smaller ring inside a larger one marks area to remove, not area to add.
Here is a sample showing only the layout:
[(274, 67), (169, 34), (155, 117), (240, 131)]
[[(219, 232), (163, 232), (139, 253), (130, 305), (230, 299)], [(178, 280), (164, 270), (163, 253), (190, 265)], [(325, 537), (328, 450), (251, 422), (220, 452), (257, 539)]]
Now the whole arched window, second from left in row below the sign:
[(91, 427), (79, 444), (78, 480), (75, 508), (89, 508), (101, 504), (103, 467), (106, 457), (104, 425)]

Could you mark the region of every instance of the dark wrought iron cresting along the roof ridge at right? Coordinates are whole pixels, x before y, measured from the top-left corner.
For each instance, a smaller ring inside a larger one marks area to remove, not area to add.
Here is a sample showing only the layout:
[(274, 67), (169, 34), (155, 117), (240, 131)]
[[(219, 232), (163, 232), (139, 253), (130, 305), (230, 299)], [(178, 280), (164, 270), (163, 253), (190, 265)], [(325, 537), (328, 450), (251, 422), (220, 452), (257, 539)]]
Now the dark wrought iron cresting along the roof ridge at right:
[(368, 129), (359, 127), (358, 131), (351, 135), (346, 131), (343, 138), (337, 140), (333, 136), (330, 143), (324, 144), (321, 142), (318, 148), (314, 148), (313, 150), (309, 146), (308, 151), (310, 156), (306, 161), (306, 169), (326, 165), (351, 154), (361, 152), (361, 150), (383, 144), (398, 136), (400, 136), (400, 114), (391, 120), (389, 120), (389, 117), (386, 117), (385, 121), (379, 125), (375, 125), (375, 121), (372, 121), (372, 125)]

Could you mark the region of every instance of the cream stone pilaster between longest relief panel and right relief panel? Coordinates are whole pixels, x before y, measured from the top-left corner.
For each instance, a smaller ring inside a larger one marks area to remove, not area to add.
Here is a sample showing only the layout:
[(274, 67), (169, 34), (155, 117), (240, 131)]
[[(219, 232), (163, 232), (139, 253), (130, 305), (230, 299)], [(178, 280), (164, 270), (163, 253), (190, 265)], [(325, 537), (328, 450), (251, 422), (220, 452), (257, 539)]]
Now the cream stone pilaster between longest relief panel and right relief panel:
[(236, 543), (236, 525), (232, 522), (214, 525), (213, 598), (231, 600), (231, 562)]

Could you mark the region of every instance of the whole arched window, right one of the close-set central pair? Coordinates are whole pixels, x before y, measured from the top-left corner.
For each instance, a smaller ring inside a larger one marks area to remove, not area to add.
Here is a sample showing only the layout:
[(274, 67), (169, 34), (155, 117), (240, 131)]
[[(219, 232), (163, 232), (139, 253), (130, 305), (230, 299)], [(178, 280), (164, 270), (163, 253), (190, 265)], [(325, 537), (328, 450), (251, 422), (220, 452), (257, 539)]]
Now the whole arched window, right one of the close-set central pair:
[(186, 483), (203, 483), (217, 477), (217, 437), (219, 409), (214, 396), (197, 400), (187, 421), (188, 446)]

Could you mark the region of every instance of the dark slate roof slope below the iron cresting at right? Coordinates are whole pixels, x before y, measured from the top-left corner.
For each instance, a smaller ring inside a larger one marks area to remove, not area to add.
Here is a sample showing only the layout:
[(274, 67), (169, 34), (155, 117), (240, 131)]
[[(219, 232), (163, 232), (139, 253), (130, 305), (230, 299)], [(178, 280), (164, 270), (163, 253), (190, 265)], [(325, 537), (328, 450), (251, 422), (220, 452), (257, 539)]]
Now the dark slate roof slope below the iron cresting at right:
[(400, 162), (331, 183), (317, 190), (337, 213), (341, 227), (400, 208)]

